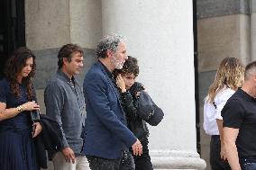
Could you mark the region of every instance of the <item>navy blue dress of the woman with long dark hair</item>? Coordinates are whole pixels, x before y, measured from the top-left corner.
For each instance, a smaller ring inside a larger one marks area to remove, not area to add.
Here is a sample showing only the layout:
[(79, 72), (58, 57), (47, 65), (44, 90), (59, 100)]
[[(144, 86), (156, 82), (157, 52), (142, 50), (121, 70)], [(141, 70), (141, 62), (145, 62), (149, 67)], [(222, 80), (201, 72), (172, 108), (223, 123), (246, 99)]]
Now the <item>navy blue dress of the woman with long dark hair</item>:
[[(25, 87), (20, 85), (21, 96), (16, 98), (10, 92), (10, 84), (4, 78), (0, 81), (0, 102), (6, 109), (28, 102)], [(32, 139), (32, 121), (28, 112), (20, 112), (11, 119), (0, 121), (0, 169), (38, 170)]]

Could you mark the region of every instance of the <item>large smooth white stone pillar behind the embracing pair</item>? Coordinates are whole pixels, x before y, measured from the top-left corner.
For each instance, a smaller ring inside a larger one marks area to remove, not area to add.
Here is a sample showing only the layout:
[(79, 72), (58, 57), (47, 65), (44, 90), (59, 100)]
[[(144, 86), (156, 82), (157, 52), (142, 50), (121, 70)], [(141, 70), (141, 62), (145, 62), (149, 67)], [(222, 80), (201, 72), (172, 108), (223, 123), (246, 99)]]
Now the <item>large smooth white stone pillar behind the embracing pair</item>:
[(150, 128), (155, 169), (205, 169), (197, 154), (191, 0), (102, 0), (103, 34), (126, 36), (138, 80), (165, 116)]

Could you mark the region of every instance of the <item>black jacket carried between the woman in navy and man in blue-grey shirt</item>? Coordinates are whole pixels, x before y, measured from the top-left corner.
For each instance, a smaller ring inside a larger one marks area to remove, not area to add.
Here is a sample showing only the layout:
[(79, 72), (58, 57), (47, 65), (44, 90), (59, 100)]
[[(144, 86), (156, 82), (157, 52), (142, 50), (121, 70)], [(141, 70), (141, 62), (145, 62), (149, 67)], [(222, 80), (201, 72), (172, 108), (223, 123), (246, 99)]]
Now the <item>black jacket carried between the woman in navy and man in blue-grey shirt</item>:
[(44, 114), (41, 114), (40, 117), (42, 131), (41, 134), (35, 138), (36, 156), (39, 166), (41, 166), (41, 168), (47, 168), (46, 150), (51, 160), (53, 153), (64, 148), (64, 144), (61, 140), (62, 133), (59, 123)]

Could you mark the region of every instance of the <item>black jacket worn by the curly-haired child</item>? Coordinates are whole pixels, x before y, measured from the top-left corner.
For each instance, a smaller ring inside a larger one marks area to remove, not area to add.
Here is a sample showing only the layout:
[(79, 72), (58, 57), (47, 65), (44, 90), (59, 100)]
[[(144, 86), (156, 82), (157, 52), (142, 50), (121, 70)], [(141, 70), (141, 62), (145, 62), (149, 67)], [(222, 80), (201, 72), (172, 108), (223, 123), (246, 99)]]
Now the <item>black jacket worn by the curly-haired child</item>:
[(121, 94), (121, 104), (126, 114), (128, 128), (133, 131), (133, 134), (142, 142), (142, 145), (144, 142), (148, 142), (147, 138), (150, 134), (146, 121), (143, 121), (137, 114), (139, 96), (136, 94), (143, 89), (142, 84), (135, 82), (129, 91)]

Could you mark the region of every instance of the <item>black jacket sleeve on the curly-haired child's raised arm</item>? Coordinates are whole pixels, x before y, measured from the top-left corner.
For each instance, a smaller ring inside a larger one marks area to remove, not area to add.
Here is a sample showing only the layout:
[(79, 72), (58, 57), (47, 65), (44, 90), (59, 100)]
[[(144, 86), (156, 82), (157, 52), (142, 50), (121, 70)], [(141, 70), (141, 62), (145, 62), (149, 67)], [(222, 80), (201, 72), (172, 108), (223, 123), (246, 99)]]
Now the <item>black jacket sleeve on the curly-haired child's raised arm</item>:
[(137, 108), (133, 105), (133, 96), (130, 92), (121, 94), (121, 104), (129, 120), (136, 120), (138, 118)]

